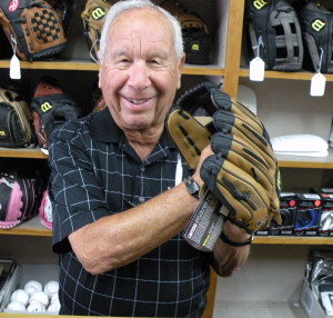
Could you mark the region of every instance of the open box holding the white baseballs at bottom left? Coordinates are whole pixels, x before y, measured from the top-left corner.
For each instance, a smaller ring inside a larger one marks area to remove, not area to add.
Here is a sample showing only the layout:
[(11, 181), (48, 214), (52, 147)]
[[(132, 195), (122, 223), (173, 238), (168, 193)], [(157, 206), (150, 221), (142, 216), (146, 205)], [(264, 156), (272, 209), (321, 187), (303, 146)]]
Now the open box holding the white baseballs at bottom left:
[(8, 305), (11, 302), (11, 295), (13, 291), (17, 289), (23, 289), (24, 285), (30, 280), (38, 280), (44, 287), (48, 281), (58, 280), (58, 267), (56, 265), (36, 264), (17, 265), (10, 279), (9, 288), (7, 289), (3, 301), (0, 306), (0, 312), (21, 314), (24, 315), (24, 317), (26, 315), (58, 315), (59, 310), (54, 311), (54, 306), (51, 306), (49, 308), (50, 310), (48, 309), (49, 306), (47, 306), (44, 311), (27, 311), (8, 308)]

